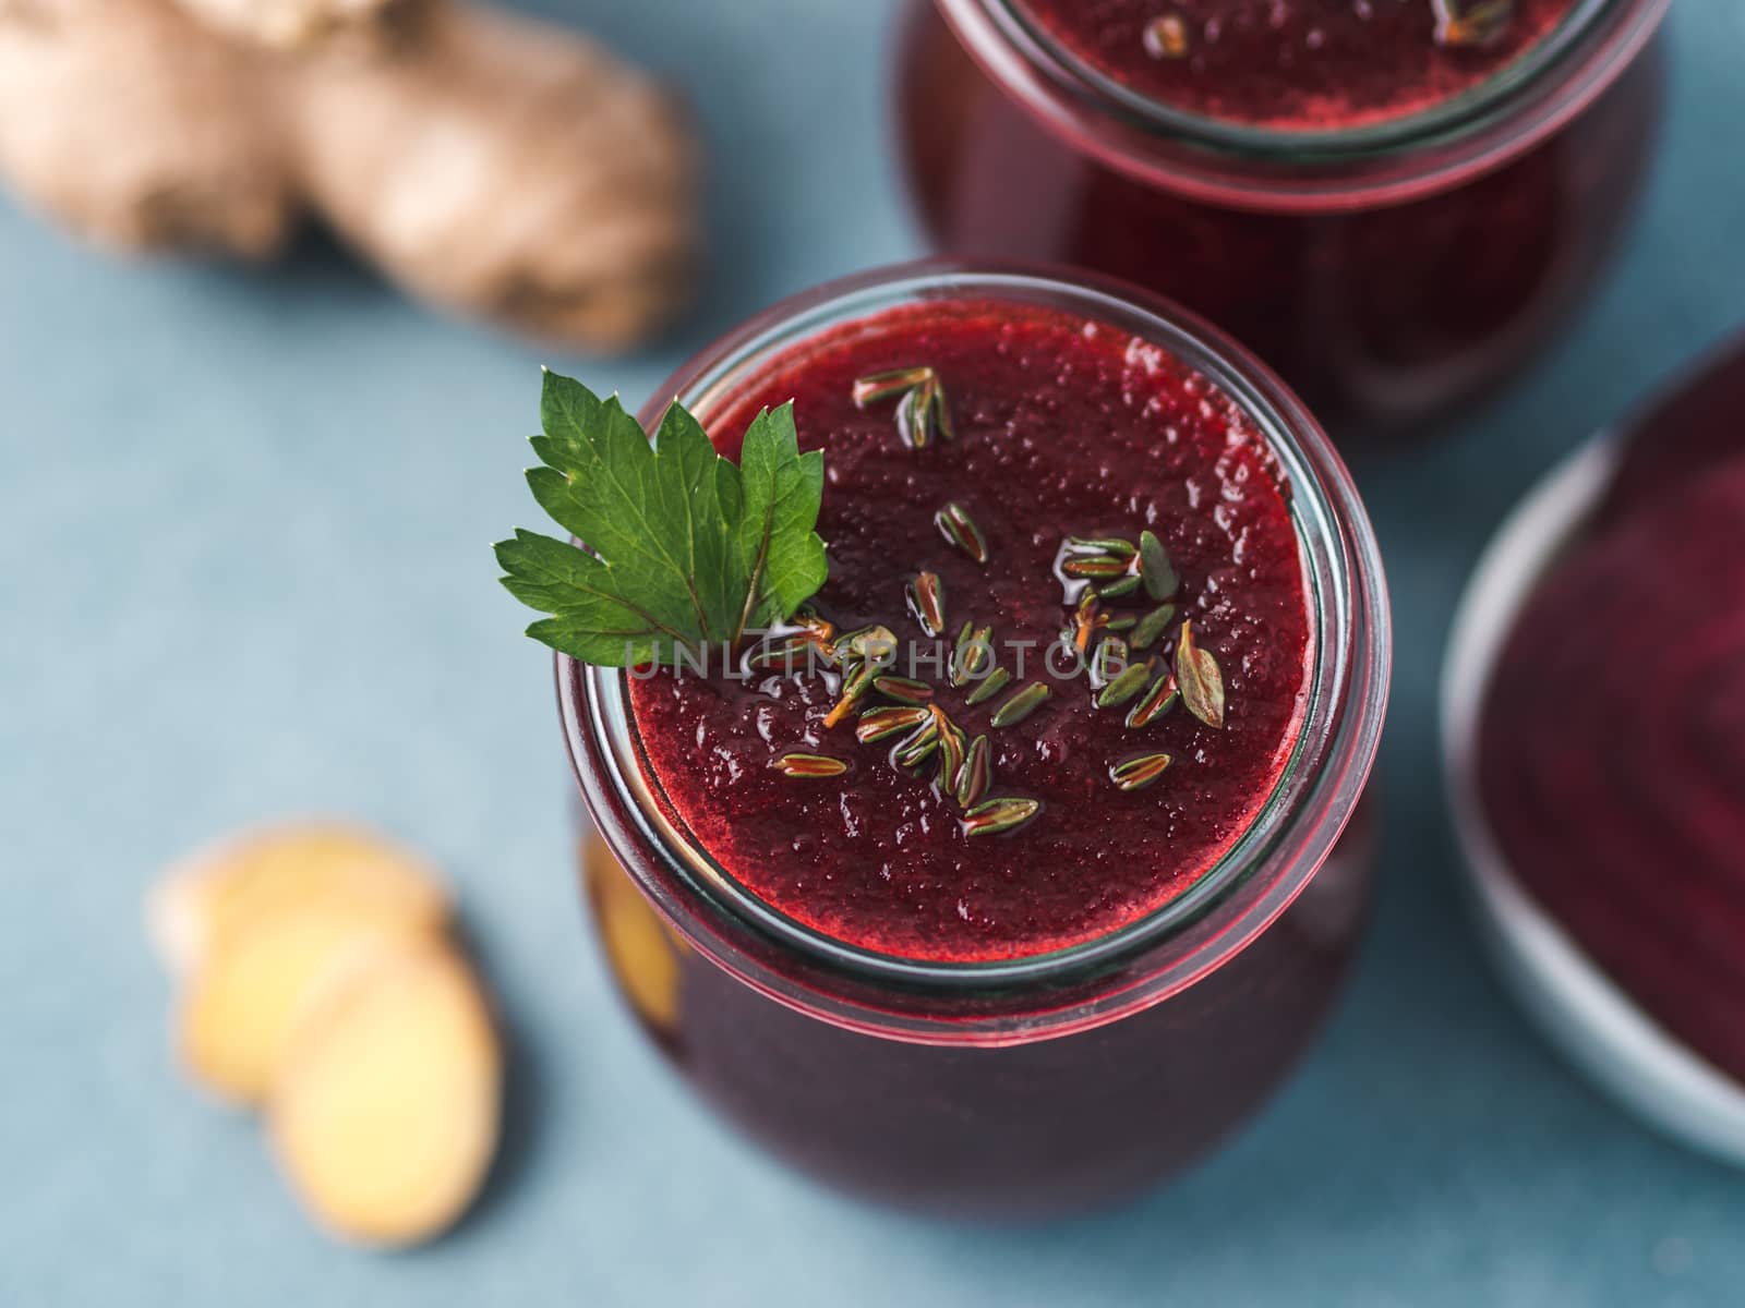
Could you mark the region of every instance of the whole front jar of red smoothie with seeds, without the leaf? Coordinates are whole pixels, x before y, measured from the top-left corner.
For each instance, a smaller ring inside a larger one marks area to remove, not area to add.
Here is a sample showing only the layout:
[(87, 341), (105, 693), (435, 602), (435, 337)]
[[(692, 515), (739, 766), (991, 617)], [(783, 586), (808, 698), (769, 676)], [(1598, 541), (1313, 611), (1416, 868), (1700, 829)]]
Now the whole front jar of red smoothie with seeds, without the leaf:
[[(663, 394), (728, 455), (794, 403), (831, 574), (731, 666), (558, 659), (626, 999), (864, 1193), (1033, 1216), (1176, 1170), (1365, 921), (1387, 610), (1324, 436), (1164, 303), (956, 265), (780, 305)], [(789, 663), (871, 631), (878, 680)]]

